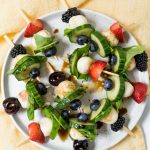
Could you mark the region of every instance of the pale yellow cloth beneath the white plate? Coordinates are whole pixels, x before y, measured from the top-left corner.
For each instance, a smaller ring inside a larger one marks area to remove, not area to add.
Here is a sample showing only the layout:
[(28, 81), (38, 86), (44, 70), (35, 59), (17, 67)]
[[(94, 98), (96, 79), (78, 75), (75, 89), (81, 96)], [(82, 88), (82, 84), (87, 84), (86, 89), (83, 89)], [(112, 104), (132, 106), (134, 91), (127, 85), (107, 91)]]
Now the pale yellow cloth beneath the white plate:
[[(145, 46), (150, 56), (150, 0), (67, 0), (67, 2), (71, 7), (92, 9), (117, 19)], [(65, 5), (61, 0), (0, 0), (0, 36), (7, 33), (14, 38), (14, 35), (25, 27), (26, 23), (18, 13), (19, 9), (25, 10), (27, 15), (34, 19), (63, 8)], [(0, 69), (9, 48), (10, 46), (0, 37)], [(134, 132), (137, 139), (128, 137), (114, 150), (145, 150), (141, 129), (137, 127)], [(0, 105), (0, 150), (39, 150), (30, 143), (17, 148), (16, 145), (23, 139)]]

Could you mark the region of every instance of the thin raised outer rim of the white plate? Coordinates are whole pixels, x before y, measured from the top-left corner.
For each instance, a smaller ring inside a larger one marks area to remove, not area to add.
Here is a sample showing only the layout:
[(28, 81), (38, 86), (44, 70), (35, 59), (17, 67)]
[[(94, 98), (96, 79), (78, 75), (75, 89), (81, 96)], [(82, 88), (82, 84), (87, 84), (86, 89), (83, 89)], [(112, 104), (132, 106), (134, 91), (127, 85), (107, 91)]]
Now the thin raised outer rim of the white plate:
[[(117, 19), (114, 19), (113, 17), (111, 17), (111, 16), (109, 16), (109, 15), (107, 15), (107, 14), (104, 14), (103, 12), (97, 12), (97, 11), (93, 11), (93, 10), (89, 10), (89, 9), (82, 9), (82, 8), (80, 8), (80, 10), (81, 10), (81, 11), (85, 11), (85, 12), (89, 12), (89, 13), (92, 13), (92, 14), (100, 14), (101, 16), (104, 16), (105, 18), (108, 18), (109, 20), (111, 20), (111, 21), (113, 21), (113, 22), (117, 21)], [(64, 11), (66, 11), (66, 10), (65, 10), (65, 9), (61, 9), (61, 10), (56, 10), (56, 11), (53, 11), (53, 12), (49, 12), (49, 13), (47, 13), (47, 14), (45, 14), (45, 15), (42, 15), (41, 17), (38, 17), (38, 19), (44, 19), (44, 18), (48, 17), (49, 15), (53, 15), (53, 14), (61, 13), (61, 12), (63, 13)], [(13, 40), (14, 43), (15, 43), (17, 40), (20, 39), (20, 37), (23, 35), (23, 32), (25, 31), (25, 29), (26, 29), (26, 26), (17, 34), (17, 36), (16, 36), (15, 39)], [(126, 31), (134, 38), (134, 41), (135, 41), (137, 44), (139, 44), (138, 41), (137, 41), (137, 39), (133, 36), (133, 34), (132, 34), (131, 32), (129, 32), (128, 30), (126, 30)], [(2, 65), (2, 71), (1, 71), (1, 91), (2, 91), (2, 98), (3, 98), (3, 99), (6, 98), (5, 90), (4, 90), (4, 78), (5, 78), (5, 70), (6, 70), (7, 60), (8, 60), (9, 54), (10, 54), (10, 50), (11, 50), (11, 48), (8, 49), (7, 55), (5, 56), (4, 63), (3, 63), (3, 65)], [(149, 78), (148, 78), (148, 77), (149, 77), (149, 73), (148, 73), (148, 70), (145, 71), (145, 73), (147, 74), (147, 81), (148, 81), (147, 85), (149, 85)], [(145, 98), (145, 99), (146, 99), (146, 98)], [(143, 112), (144, 112), (144, 108), (145, 108), (145, 106), (146, 106), (146, 103), (147, 103), (147, 101), (144, 101), (144, 102), (142, 103), (142, 115), (143, 115)], [(137, 125), (137, 123), (138, 123), (139, 119), (142, 117), (142, 115), (137, 119), (136, 124), (135, 124), (131, 129), (133, 129), (133, 128)], [(28, 134), (23, 131), (23, 129), (22, 129), (22, 128), (19, 126), (19, 124), (15, 121), (15, 119), (14, 119), (13, 116), (14, 116), (14, 115), (9, 115), (9, 117), (11, 118), (11, 120), (12, 120), (13, 124), (15, 125), (15, 127), (16, 127), (25, 137), (28, 138)], [(126, 133), (124, 136), (122, 136), (121, 139), (116, 140), (116, 142), (113, 143), (113, 144), (111, 144), (111, 146), (110, 146), (109, 148), (111, 148), (112, 146), (114, 146), (114, 145), (116, 145), (117, 143), (119, 143), (120, 141), (122, 141), (127, 135), (128, 135), (128, 134)], [(36, 143), (36, 142), (33, 142), (33, 141), (31, 141), (31, 140), (30, 140), (30, 142), (33, 143), (33, 144), (35, 144), (36, 146), (38, 146), (38, 147), (44, 149), (44, 150), (52, 150), (51, 148), (43, 147), (43, 145), (41, 145), (41, 144), (39, 144), (39, 143)]]

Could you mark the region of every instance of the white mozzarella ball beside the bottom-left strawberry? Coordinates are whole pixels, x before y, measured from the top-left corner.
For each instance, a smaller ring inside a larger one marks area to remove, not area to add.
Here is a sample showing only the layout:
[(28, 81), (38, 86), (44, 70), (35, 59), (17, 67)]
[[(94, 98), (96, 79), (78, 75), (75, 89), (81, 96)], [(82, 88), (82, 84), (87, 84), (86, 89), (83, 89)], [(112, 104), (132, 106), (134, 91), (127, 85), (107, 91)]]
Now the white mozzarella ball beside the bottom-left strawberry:
[(52, 120), (44, 117), (39, 121), (39, 124), (44, 136), (50, 136), (50, 133), (52, 131)]

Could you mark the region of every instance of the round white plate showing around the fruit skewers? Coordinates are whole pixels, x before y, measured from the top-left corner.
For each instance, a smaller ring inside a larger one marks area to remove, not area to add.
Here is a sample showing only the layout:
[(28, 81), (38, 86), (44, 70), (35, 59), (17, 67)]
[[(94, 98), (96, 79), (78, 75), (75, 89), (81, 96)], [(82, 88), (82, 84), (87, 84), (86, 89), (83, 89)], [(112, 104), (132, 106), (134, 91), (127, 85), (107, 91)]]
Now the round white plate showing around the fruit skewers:
[[(59, 33), (56, 34), (56, 38), (60, 40), (60, 44), (58, 46), (59, 51), (67, 52), (68, 50), (74, 50), (75, 48), (79, 47), (77, 44), (71, 44), (69, 40), (63, 36), (63, 30), (68, 27), (68, 24), (65, 24), (61, 21), (61, 15), (64, 11), (57, 11), (50, 13), (46, 16), (41, 17), (41, 19), (45, 22), (46, 29), (52, 31), (52, 29), (59, 29)], [(103, 15), (101, 13), (93, 12), (90, 10), (82, 10), (82, 13), (86, 16), (89, 23), (91, 23), (98, 31), (103, 29), (108, 29), (111, 24), (115, 22), (112, 18)], [(23, 45), (31, 45), (30, 38), (23, 37), (24, 30), (20, 33), (18, 38), (16, 38), (15, 43), (22, 43)], [(51, 32), (52, 33), (52, 32)], [(137, 45), (137, 41), (135, 38), (128, 33), (129, 39), (128, 42), (125, 43), (124, 47)], [(13, 60), (11, 59), (10, 55), (6, 57), (3, 71), (2, 71), (2, 94), (3, 98), (7, 98), (10, 96), (17, 96), (18, 92), (25, 89), (24, 82), (18, 82), (14, 76), (8, 76), (7, 72), (9, 69), (13, 68)], [(130, 79), (141, 81), (144, 83), (149, 83), (148, 79), (148, 72), (139, 72), (138, 70), (134, 70), (130, 73)], [(133, 100), (127, 102), (126, 106), (128, 109), (128, 114), (130, 117), (130, 121), (128, 127), (133, 129), (134, 126), (137, 124), (138, 120), (142, 116), (143, 110), (145, 108), (146, 102), (142, 104), (137, 104)], [(16, 115), (11, 116), (14, 124), (17, 128), (27, 136), (27, 124), (28, 119), (25, 112), (19, 112)], [(102, 131), (96, 137), (95, 142), (92, 145), (90, 150), (103, 150), (110, 148), (111, 146), (117, 144), (121, 141), (127, 134), (124, 131), (119, 131), (117, 133), (112, 132), (109, 126), (101, 129)], [(37, 143), (36, 143), (37, 144)], [(65, 142), (62, 142), (59, 137), (57, 137), (54, 141), (49, 140), (44, 145), (37, 144), (39, 147), (43, 149), (49, 150), (72, 150), (72, 141), (68, 138)]]

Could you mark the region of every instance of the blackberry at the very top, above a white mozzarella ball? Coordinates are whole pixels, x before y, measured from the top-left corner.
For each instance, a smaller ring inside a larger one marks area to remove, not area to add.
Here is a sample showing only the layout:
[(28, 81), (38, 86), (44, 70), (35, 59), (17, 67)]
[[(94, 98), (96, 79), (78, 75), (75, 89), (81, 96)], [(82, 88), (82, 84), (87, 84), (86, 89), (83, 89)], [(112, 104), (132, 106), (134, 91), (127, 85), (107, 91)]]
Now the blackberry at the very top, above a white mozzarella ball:
[(77, 16), (77, 15), (80, 15), (80, 12), (79, 12), (79, 10), (78, 10), (76, 7), (69, 8), (64, 14), (62, 14), (61, 20), (62, 20), (63, 22), (68, 23), (68, 22), (69, 22), (69, 19), (70, 19), (71, 17)]

